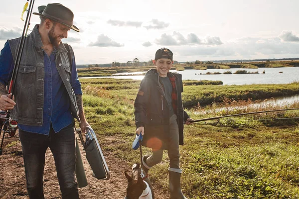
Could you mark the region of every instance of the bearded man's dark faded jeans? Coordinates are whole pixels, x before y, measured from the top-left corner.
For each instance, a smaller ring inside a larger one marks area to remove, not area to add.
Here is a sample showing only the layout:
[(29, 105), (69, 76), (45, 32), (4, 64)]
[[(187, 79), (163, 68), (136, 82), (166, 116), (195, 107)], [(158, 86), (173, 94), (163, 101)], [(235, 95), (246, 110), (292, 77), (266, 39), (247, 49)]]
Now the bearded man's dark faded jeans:
[(45, 154), (49, 147), (55, 161), (62, 199), (79, 199), (75, 180), (75, 130), (74, 123), (55, 133), (52, 125), (49, 136), (19, 129), (30, 199), (44, 199)]

